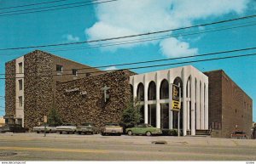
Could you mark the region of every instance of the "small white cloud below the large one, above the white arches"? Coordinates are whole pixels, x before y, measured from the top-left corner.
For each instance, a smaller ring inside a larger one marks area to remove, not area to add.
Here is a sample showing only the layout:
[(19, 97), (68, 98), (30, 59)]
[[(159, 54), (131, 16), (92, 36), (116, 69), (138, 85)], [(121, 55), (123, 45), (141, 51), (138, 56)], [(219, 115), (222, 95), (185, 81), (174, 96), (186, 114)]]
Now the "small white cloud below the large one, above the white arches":
[(198, 52), (197, 48), (189, 48), (188, 42), (178, 41), (176, 38), (168, 38), (160, 42), (160, 51), (167, 58), (175, 58), (179, 56), (195, 55)]

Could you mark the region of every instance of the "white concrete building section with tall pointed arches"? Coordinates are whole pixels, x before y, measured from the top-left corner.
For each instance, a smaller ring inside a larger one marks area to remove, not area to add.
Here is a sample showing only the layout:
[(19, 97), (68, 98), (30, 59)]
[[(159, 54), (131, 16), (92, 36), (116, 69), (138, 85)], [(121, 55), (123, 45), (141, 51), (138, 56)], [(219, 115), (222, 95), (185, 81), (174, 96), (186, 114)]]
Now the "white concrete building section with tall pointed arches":
[(183, 136), (208, 129), (208, 77), (188, 65), (131, 76), (133, 96), (143, 105), (144, 122), (154, 127), (177, 128), (172, 110), (172, 84), (181, 87), (180, 127)]

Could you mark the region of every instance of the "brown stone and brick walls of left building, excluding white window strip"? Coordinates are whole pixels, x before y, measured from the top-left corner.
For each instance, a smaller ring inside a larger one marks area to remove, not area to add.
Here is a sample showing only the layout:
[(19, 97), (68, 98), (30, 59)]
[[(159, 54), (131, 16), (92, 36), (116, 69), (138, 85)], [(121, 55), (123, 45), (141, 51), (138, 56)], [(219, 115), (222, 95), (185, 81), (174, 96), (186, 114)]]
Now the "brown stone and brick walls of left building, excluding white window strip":
[[(56, 65), (62, 65), (63, 71), (56, 71)], [(74, 76), (72, 69), (80, 69), (80, 74)], [(24, 55), (24, 127), (31, 129), (38, 126), (49, 110), (55, 107), (56, 82), (83, 78), (88, 76), (87, 72), (96, 72), (90, 73), (90, 76), (102, 73), (98, 69), (39, 50)], [(6, 63), (6, 115), (15, 116), (15, 85), (14, 59)]]

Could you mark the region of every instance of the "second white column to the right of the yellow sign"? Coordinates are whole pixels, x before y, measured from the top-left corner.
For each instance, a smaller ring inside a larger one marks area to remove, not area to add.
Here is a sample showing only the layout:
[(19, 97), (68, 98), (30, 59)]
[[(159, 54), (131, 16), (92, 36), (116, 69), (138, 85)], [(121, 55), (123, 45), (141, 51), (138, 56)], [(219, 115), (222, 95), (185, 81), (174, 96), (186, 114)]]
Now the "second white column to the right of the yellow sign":
[(191, 77), (191, 135), (195, 135), (195, 77)]

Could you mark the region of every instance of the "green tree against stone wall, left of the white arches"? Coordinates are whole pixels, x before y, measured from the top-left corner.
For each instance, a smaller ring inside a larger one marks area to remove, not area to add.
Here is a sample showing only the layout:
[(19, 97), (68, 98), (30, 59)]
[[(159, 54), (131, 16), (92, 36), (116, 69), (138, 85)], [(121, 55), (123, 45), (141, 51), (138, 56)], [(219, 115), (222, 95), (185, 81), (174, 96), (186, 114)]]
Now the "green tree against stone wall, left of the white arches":
[(138, 99), (131, 100), (123, 111), (123, 124), (125, 127), (134, 127), (142, 120), (141, 107)]

